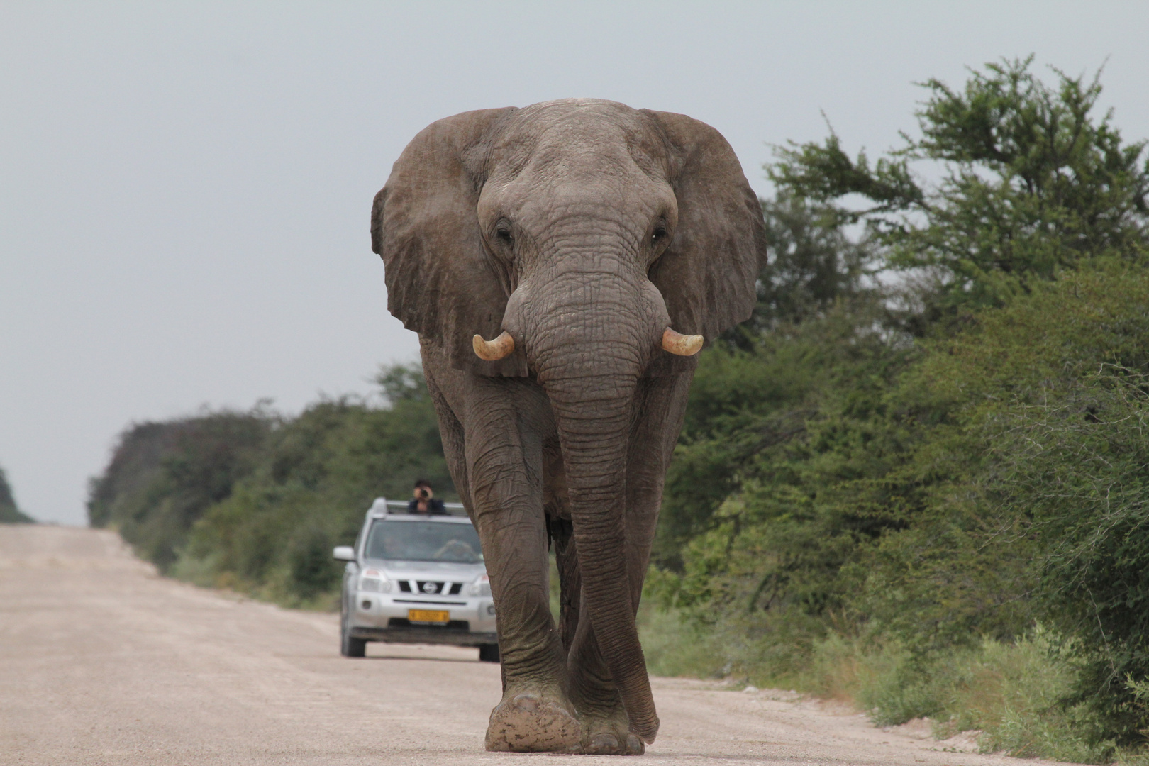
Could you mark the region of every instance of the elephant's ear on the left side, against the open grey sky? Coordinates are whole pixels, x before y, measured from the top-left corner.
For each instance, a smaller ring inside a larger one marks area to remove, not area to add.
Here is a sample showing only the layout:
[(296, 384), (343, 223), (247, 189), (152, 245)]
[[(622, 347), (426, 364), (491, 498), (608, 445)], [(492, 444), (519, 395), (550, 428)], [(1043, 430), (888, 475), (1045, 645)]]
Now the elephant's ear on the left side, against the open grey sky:
[(471, 346), (476, 333), (489, 340), (501, 332), (510, 296), (483, 245), (477, 206), (484, 149), (512, 111), (464, 111), (423, 129), (371, 209), (371, 249), (386, 269), (387, 309), (423, 342), (440, 347), (453, 367), (485, 376), (526, 374), (520, 351), (485, 362)]

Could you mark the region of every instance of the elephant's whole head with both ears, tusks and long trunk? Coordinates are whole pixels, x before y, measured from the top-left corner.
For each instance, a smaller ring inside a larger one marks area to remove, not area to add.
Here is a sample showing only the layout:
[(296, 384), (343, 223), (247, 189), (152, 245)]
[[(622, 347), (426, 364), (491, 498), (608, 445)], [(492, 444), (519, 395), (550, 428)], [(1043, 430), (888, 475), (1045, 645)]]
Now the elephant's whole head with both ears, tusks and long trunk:
[[(689, 374), (750, 316), (762, 210), (730, 145), (684, 115), (562, 100), (423, 130), (371, 214), (387, 305), (453, 366), (550, 400), (584, 597), (631, 728), (657, 732), (625, 551), (642, 377)], [(484, 339), (495, 339), (486, 341)]]

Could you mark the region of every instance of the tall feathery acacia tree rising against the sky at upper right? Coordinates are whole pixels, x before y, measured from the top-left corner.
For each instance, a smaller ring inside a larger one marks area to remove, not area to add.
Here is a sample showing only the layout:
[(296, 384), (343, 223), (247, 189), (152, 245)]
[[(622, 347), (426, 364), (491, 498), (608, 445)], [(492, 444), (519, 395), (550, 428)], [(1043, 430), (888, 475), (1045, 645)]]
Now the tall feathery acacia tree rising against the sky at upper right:
[[(1111, 113), (1095, 116), (1100, 71), (1086, 83), (1054, 70), (1052, 87), (1032, 61), (986, 64), (961, 91), (926, 80), (920, 137), (902, 133), (904, 146), (877, 162), (850, 158), (831, 131), (820, 145), (779, 147), (768, 173), (784, 193), (864, 222), (888, 268), (932, 274), (926, 324), (1000, 305), (1086, 260), (1144, 260), (1146, 141), (1125, 144)], [(920, 162), (940, 164), (938, 183), (915, 172)]]

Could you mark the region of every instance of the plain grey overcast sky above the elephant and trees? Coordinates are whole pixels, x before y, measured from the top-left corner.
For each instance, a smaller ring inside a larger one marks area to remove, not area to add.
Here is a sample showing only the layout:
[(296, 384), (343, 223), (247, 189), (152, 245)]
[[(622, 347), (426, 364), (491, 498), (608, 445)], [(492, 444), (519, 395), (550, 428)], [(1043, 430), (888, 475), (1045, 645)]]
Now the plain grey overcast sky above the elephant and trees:
[[(871, 154), (913, 82), (1036, 54), (1149, 137), (1149, 3), (0, 3), (0, 465), (84, 524), (130, 423), (367, 393), (416, 356), (368, 214), (424, 125), (593, 96)], [(1044, 71), (1044, 69), (1042, 69)]]

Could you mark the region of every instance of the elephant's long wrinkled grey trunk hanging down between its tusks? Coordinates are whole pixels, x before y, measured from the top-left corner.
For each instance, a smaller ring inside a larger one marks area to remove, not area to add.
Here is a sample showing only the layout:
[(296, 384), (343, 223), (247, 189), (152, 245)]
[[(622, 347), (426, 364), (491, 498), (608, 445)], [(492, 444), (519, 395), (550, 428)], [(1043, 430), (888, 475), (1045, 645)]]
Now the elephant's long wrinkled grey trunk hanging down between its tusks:
[[(589, 304), (602, 314), (593, 322), (572, 320), (577, 314), (555, 305), (563, 299), (548, 301), (548, 315), (565, 322), (537, 325), (530, 356), (555, 415), (591, 625), (631, 729), (653, 742), (658, 718), (627, 574), (626, 457), (638, 379), (658, 347), (665, 308), (653, 285), (657, 305), (641, 285), (625, 287), (594, 289)], [(584, 281), (565, 294), (585, 311), (587, 289)]]

